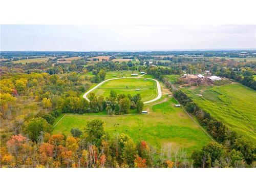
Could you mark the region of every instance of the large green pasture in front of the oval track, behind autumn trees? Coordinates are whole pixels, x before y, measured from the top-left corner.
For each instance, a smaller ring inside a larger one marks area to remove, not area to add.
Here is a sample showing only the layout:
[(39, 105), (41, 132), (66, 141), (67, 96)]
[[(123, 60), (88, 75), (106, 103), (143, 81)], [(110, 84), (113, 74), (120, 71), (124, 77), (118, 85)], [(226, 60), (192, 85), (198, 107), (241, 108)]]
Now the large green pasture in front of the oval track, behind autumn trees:
[(200, 149), (210, 138), (195, 124), (181, 108), (175, 108), (176, 101), (169, 98), (156, 104), (148, 114), (136, 115), (66, 115), (55, 127), (54, 134), (70, 135), (73, 127), (84, 131), (86, 122), (101, 119), (106, 123), (105, 131), (112, 137), (125, 133), (135, 142), (145, 140), (160, 147), (171, 143), (174, 148), (184, 148), (188, 154)]

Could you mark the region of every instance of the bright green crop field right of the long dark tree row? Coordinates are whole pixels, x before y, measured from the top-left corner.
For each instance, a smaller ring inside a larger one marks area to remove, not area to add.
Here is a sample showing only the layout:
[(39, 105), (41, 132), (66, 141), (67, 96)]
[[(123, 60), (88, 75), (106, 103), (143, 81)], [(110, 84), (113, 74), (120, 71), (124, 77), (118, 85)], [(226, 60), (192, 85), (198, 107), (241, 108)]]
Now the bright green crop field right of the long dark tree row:
[(256, 141), (256, 91), (239, 83), (183, 90), (230, 129)]

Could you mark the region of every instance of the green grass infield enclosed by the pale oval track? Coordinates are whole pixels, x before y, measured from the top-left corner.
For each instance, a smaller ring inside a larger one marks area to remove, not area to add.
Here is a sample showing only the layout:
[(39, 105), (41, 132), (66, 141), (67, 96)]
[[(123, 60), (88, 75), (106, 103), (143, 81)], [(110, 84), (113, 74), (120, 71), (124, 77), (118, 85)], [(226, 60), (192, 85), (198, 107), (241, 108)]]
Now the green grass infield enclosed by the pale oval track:
[[(140, 89), (136, 91), (136, 89)], [(125, 78), (115, 79), (103, 83), (93, 91), (96, 96), (109, 97), (110, 91), (114, 90), (117, 94), (141, 95), (142, 101), (149, 101), (157, 96), (156, 81), (144, 78)]]

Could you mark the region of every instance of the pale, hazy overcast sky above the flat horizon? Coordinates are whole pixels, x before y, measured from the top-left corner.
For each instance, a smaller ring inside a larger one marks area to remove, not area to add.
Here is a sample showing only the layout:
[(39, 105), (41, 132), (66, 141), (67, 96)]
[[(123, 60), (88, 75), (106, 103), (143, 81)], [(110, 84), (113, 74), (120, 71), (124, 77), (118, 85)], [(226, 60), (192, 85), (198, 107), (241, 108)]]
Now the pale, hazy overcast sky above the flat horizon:
[(256, 25), (1, 25), (1, 51), (256, 49)]

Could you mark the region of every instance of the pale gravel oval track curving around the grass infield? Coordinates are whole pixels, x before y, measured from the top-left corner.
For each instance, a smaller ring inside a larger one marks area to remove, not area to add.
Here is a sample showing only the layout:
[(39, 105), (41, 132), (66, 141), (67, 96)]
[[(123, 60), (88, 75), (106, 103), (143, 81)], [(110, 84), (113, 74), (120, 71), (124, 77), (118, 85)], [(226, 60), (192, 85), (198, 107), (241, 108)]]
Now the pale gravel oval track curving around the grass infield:
[[(94, 91), (95, 89), (97, 89), (98, 87), (100, 87), (100, 86), (101, 86), (103, 83), (105, 83), (106, 81), (115, 80), (115, 79), (125, 79), (125, 78), (143, 78), (143, 77), (141, 77), (141, 76), (143, 76), (143, 75), (140, 75), (140, 76), (138, 76), (138, 77), (118, 77), (118, 78), (113, 78), (113, 79), (106, 79), (106, 80), (100, 82), (99, 84), (97, 84), (97, 86), (95, 86), (94, 88), (90, 89), (88, 92), (84, 93), (82, 97), (83, 97), (84, 99), (90, 101), (90, 100), (87, 98), (87, 95), (88, 95), (89, 93), (91, 93), (92, 91)], [(156, 100), (158, 100), (158, 99), (160, 99), (160, 98), (162, 97), (162, 91), (161, 91), (161, 87), (160, 87), (159, 81), (156, 80), (156, 79), (152, 79), (152, 78), (146, 78), (146, 79), (151, 79), (151, 80), (156, 81), (156, 83), (157, 83), (157, 93), (158, 93), (158, 95), (157, 95), (157, 97), (156, 97), (155, 99), (152, 99), (152, 100), (150, 100), (150, 101), (145, 101), (144, 104), (154, 102), (154, 101), (156, 101)]]

